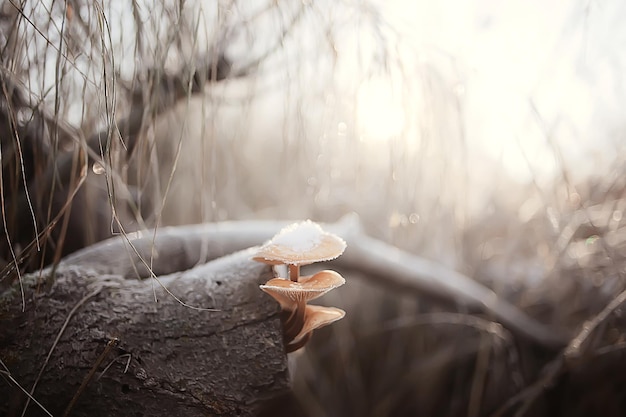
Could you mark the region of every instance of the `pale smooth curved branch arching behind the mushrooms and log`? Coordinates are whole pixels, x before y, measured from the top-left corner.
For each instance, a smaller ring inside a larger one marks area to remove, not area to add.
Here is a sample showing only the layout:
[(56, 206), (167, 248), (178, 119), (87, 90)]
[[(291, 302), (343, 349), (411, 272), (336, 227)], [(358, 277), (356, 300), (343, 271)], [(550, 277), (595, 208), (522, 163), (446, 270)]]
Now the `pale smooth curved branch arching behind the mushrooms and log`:
[[(260, 245), (287, 224), (289, 222), (284, 221), (233, 221), (165, 227), (156, 233), (140, 233), (99, 243), (68, 257), (65, 262), (89, 265), (101, 273), (145, 278), (153, 273), (159, 275), (191, 268), (199, 262)], [(383, 285), (478, 309), (514, 334), (548, 349), (560, 349), (570, 339), (561, 329), (534, 320), (480, 282), (367, 236), (355, 216), (346, 216), (323, 228), (347, 242), (345, 253), (331, 261), (336, 269), (358, 271)], [(93, 251), (106, 256), (96, 256)]]

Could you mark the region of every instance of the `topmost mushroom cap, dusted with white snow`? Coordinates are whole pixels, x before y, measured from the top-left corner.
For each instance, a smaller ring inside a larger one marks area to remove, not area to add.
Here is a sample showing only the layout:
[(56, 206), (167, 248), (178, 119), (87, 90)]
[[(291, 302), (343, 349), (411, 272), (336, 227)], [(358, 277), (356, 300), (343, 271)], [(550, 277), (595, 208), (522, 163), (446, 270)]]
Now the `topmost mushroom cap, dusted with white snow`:
[(345, 249), (343, 239), (307, 220), (282, 229), (252, 259), (269, 265), (308, 265), (335, 259)]

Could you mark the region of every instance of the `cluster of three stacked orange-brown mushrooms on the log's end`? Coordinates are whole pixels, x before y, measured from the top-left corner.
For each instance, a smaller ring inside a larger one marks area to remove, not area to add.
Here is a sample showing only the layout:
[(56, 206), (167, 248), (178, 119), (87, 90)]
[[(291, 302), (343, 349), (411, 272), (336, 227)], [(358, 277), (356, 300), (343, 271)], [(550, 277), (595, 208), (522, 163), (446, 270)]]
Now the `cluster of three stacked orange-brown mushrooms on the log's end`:
[(286, 265), (288, 277), (270, 279), (261, 289), (280, 304), (287, 352), (300, 349), (311, 338), (313, 330), (341, 319), (345, 311), (334, 307), (308, 305), (346, 281), (335, 271), (324, 270), (300, 276), (300, 267), (337, 258), (346, 242), (310, 220), (281, 230), (261, 246), (253, 257), (268, 265)]

